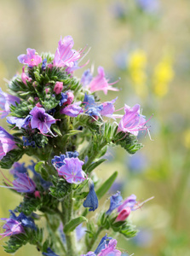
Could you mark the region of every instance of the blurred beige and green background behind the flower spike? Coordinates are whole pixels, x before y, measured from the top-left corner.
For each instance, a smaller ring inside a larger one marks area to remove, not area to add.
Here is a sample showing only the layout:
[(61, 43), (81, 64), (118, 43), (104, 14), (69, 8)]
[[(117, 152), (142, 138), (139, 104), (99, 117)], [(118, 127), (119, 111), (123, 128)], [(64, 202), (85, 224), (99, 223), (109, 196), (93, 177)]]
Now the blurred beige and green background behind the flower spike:
[[(189, 255), (189, 9), (189, 0), (0, 2), (0, 87), (4, 91), (4, 79), (21, 72), (17, 56), (26, 54), (26, 48), (55, 53), (60, 35), (72, 35), (74, 49), (91, 47), (84, 62), (90, 60), (87, 67), (94, 65), (95, 75), (101, 65), (111, 82), (121, 78), (116, 109), (124, 103), (131, 107), (140, 103), (147, 119), (154, 114), (147, 124), (152, 139), (139, 135), (144, 148), (132, 156), (122, 148), (110, 148), (109, 161), (96, 170), (102, 179), (119, 172), (109, 195), (119, 189), (124, 197), (135, 194), (139, 201), (154, 196), (130, 216), (138, 236), (130, 241), (119, 237), (124, 255)], [(87, 67), (75, 75), (79, 78)], [(116, 97), (115, 92), (99, 95), (102, 101)], [(1, 125), (6, 127), (6, 120), (1, 119)], [(9, 171), (3, 172), (9, 177)], [(0, 195), (0, 216), (8, 218), (9, 209), (21, 197), (3, 188)], [(8, 255), (3, 247), (0, 255)], [(15, 255), (41, 253), (27, 245)]]

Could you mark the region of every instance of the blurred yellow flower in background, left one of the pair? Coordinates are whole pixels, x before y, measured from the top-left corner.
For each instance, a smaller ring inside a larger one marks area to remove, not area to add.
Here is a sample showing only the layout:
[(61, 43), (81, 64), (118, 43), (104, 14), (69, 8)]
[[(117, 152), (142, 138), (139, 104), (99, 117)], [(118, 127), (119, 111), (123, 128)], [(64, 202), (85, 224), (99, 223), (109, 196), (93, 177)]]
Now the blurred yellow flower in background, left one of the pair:
[(142, 49), (136, 49), (129, 56), (128, 68), (130, 79), (135, 87), (135, 92), (138, 96), (147, 96), (147, 55)]

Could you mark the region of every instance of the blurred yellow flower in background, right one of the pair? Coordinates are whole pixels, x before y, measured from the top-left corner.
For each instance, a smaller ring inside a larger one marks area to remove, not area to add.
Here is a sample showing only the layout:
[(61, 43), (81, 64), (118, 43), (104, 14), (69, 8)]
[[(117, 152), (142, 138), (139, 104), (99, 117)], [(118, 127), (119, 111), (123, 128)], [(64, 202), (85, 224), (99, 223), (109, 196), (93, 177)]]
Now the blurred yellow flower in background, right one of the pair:
[(157, 96), (165, 96), (174, 77), (173, 61), (169, 55), (158, 63), (153, 73), (153, 90)]

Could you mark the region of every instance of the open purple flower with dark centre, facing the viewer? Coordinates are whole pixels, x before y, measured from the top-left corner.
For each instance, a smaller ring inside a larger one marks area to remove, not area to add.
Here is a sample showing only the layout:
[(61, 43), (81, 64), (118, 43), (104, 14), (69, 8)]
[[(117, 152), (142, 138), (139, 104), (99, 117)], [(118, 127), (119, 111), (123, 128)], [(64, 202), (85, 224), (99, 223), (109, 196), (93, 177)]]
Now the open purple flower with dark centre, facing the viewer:
[(55, 124), (56, 120), (48, 113), (45, 113), (44, 108), (34, 107), (30, 114), (32, 114), (32, 129), (37, 128), (42, 134), (50, 132), (51, 135), (55, 136), (52, 131), (50, 131), (50, 126)]

